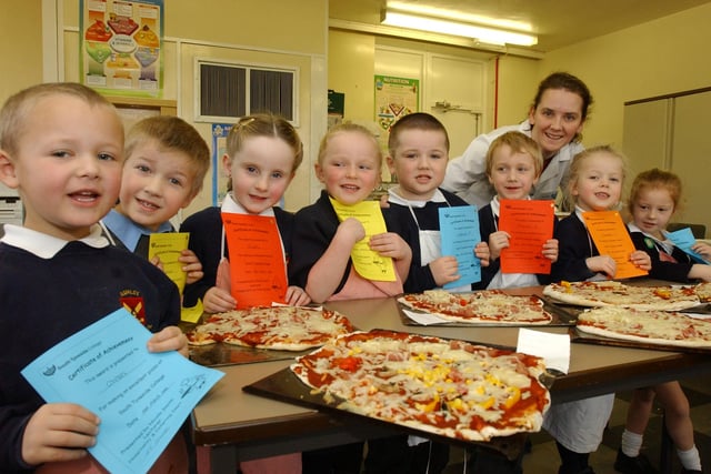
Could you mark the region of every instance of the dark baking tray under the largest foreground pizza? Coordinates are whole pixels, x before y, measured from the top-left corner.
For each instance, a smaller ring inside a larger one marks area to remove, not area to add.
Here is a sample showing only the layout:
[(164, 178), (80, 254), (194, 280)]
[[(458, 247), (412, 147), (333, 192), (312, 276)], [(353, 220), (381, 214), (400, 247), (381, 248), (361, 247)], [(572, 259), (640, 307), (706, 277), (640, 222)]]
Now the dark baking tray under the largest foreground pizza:
[(339, 409), (338, 405), (340, 402), (338, 400), (327, 402), (323, 399), (323, 394), (311, 393), (311, 387), (304, 385), (299, 380), (299, 377), (297, 377), (297, 375), (294, 375), (293, 372), (291, 372), (291, 370), (288, 367), (282, 369), (281, 371), (269, 375), (260, 381), (246, 385), (242, 387), (242, 390), (253, 395), (264, 396), (267, 399), (272, 399), (280, 402), (287, 402), (294, 405), (304, 406), (307, 409), (316, 409), (322, 413), (328, 413), (330, 415), (339, 417), (358, 420), (360, 422), (371, 423), (379, 426), (388, 426), (391, 428), (397, 427), (404, 434), (413, 434), (437, 442), (457, 444), (464, 447), (471, 447), (473, 444), (481, 445), (483, 447), (500, 452), (509, 460), (515, 460), (519, 455), (521, 455), (529, 434), (517, 433), (511, 436), (493, 437), (489, 442), (474, 442), (441, 436), (410, 426), (402, 426), (384, 420), (378, 420), (362, 414), (352, 413)]

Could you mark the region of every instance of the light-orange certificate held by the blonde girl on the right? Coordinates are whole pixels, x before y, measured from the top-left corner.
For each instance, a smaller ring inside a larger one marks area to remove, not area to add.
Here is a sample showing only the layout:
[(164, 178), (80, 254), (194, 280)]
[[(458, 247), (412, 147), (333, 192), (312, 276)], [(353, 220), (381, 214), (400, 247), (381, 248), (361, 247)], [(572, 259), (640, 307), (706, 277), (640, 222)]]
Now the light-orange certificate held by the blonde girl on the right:
[(630, 255), (637, 249), (618, 211), (583, 212), (582, 218), (600, 255), (610, 255), (614, 259), (618, 266), (615, 279), (647, 274), (647, 271), (640, 270), (630, 262)]

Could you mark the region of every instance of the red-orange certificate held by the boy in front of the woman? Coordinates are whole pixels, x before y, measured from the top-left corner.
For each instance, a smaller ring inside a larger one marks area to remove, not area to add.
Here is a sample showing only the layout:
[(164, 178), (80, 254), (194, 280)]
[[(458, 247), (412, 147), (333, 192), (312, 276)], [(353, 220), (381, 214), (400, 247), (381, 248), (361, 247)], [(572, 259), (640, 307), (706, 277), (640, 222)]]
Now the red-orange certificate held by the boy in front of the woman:
[(501, 273), (550, 273), (543, 244), (553, 238), (553, 201), (502, 199), (500, 204), (499, 230), (510, 235), (501, 251)]

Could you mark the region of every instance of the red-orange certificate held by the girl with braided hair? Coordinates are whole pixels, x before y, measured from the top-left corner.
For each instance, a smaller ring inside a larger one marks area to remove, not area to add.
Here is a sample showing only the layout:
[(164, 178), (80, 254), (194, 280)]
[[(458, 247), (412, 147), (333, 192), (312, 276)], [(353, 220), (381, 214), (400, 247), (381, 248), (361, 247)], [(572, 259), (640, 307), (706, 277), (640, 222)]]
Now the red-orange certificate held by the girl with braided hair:
[(287, 268), (277, 219), (223, 212), (230, 288), (237, 307), (284, 303)]

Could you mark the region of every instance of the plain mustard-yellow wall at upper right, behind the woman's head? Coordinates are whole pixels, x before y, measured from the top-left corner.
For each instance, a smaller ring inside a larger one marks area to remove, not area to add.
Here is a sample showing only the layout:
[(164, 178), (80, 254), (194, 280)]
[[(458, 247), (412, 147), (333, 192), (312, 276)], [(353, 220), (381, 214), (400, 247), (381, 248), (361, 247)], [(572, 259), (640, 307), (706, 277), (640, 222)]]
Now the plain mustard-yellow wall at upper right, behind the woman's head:
[(711, 3), (552, 51), (545, 71), (564, 69), (593, 94), (583, 142), (622, 145), (625, 101), (711, 85)]

